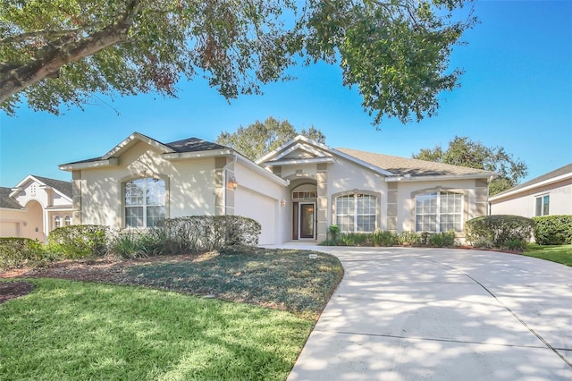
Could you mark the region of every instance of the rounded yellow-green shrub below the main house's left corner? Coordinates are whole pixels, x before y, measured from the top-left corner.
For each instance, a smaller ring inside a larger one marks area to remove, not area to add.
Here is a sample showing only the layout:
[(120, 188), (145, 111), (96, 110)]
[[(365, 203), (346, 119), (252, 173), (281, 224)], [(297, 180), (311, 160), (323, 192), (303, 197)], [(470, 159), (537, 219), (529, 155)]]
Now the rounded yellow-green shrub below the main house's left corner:
[(48, 250), (67, 259), (103, 257), (110, 229), (96, 224), (59, 227), (47, 236)]

